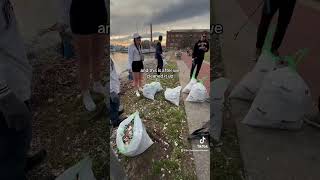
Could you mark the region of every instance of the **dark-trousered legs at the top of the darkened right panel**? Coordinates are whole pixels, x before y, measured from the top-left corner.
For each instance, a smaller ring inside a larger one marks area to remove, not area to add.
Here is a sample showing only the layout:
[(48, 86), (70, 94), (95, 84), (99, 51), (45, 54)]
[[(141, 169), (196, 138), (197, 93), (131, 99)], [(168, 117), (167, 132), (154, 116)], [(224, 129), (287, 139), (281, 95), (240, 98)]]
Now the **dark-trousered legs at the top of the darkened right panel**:
[(278, 24), (271, 45), (271, 52), (279, 56), (279, 47), (290, 23), (296, 0), (266, 0), (257, 33), (256, 60), (262, 52), (262, 47), (268, 33), (269, 25), (274, 14), (279, 10)]

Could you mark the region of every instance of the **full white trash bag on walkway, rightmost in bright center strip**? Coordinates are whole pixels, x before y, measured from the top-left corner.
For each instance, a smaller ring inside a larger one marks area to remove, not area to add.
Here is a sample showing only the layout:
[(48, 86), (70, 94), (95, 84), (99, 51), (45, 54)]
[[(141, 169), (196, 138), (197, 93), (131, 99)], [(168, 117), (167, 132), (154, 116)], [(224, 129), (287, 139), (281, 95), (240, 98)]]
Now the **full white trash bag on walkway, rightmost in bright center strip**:
[(192, 86), (192, 89), (186, 99), (189, 102), (204, 102), (208, 99), (208, 93), (206, 87), (198, 82)]

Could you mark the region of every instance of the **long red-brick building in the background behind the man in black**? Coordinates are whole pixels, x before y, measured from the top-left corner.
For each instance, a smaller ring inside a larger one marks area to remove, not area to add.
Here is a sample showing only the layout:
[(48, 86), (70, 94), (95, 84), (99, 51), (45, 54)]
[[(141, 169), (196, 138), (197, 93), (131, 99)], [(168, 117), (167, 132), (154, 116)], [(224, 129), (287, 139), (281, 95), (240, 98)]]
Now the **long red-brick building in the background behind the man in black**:
[(182, 29), (167, 31), (166, 47), (170, 49), (193, 48), (194, 44), (205, 33), (209, 40), (209, 29)]

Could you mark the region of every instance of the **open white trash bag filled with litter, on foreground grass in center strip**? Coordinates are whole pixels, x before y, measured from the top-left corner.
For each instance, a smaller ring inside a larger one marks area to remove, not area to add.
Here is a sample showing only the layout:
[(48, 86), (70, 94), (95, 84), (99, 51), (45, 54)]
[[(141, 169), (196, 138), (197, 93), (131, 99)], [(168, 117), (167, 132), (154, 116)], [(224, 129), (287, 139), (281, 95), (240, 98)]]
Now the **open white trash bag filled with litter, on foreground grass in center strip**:
[[(133, 121), (133, 135), (129, 144), (123, 142), (124, 133), (126, 126)], [(135, 112), (130, 115), (126, 120), (122, 121), (117, 129), (116, 137), (117, 147), (119, 152), (125, 156), (133, 157), (143, 153), (152, 144), (153, 141), (150, 139), (140, 117), (139, 112)]]

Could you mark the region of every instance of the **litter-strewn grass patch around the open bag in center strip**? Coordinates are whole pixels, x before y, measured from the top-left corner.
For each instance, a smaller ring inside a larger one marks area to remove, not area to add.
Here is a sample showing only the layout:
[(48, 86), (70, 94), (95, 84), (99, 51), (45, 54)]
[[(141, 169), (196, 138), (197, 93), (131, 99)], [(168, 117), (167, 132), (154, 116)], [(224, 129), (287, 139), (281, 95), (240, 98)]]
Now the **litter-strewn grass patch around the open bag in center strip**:
[[(174, 56), (171, 56), (174, 57)], [(149, 67), (155, 67), (154, 64)], [(147, 67), (148, 68), (148, 67)], [(174, 59), (168, 61), (166, 69), (177, 69)], [(168, 72), (167, 75), (173, 75), (170, 79), (158, 79), (162, 88), (175, 88), (179, 86), (178, 73)], [(145, 79), (146, 83), (156, 81), (157, 79)], [(155, 100), (148, 100), (144, 97), (136, 97), (133, 90), (130, 89), (121, 97), (125, 113), (132, 114), (139, 111), (140, 117), (148, 134), (155, 141), (146, 152), (135, 158), (124, 159), (124, 165), (128, 171), (130, 179), (196, 179), (195, 168), (190, 152), (184, 152), (183, 149), (190, 149), (191, 145), (186, 140), (188, 135), (188, 126), (186, 122), (186, 113), (182, 100), (180, 106), (175, 106), (164, 98), (164, 90), (155, 95)], [(168, 146), (166, 146), (166, 142)], [(139, 172), (144, 166), (143, 175)], [(139, 170), (140, 169), (140, 170)]]

